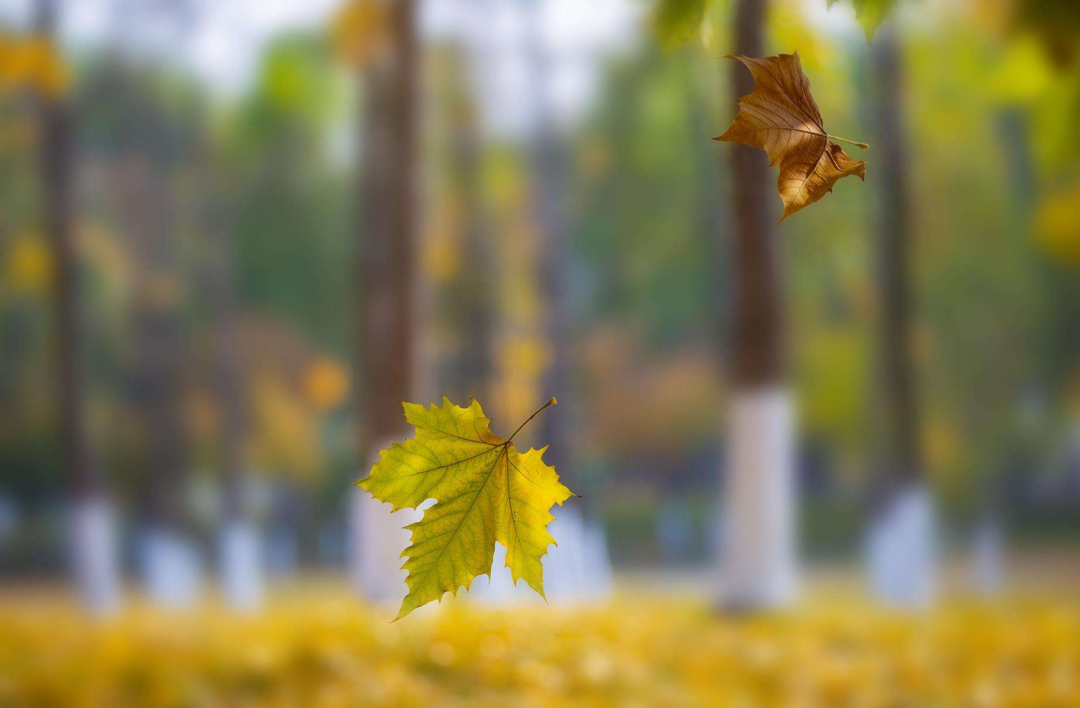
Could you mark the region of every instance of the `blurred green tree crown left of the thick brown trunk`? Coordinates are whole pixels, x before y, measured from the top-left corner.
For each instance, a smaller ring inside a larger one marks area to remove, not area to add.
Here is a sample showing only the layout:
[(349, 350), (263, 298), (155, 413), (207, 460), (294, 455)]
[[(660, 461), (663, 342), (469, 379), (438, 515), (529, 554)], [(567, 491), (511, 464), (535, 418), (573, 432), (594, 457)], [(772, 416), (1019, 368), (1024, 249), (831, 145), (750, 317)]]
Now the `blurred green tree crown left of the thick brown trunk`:
[(352, 351), (355, 237), (352, 175), (327, 134), (343, 103), (334, 60), (315, 38), (269, 50), (221, 142), (234, 205), (234, 262), (243, 300), (283, 317), (339, 354)]

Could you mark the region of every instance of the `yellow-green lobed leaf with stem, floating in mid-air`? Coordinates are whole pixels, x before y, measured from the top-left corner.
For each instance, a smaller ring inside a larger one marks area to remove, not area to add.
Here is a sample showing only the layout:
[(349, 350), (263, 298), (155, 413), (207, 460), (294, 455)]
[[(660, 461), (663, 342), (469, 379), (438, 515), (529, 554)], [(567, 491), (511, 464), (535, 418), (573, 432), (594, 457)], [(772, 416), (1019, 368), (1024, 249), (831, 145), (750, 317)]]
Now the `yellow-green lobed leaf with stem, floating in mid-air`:
[(555, 543), (548, 533), (551, 507), (572, 492), (543, 462), (546, 447), (521, 453), (514, 436), (555, 403), (544, 404), (508, 439), (491, 433), (491, 421), (475, 400), (468, 408), (446, 396), (442, 406), (402, 404), (416, 437), (381, 450), (372, 473), (356, 482), (395, 512), (435, 500), (423, 518), (405, 527), (413, 532), (402, 553), (408, 595), (397, 620), (489, 574), (496, 541), (507, 548), (514, 584), (524, 580), (543, 597), (540, 559)]

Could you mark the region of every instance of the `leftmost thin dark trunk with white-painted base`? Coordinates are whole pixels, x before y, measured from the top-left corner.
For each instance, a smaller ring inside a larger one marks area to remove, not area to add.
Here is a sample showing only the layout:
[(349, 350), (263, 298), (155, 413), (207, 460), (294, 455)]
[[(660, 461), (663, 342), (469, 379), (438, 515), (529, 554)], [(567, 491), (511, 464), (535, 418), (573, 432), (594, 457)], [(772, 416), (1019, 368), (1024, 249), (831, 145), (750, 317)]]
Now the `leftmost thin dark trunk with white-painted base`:
[[(39, 0), (37, 11), (39, 35), (58, 51), (55, 0)], [(71, 494), (72, 564), (84, 607), (95, 614), (107, 614), (119, 604), (120, 573), (113, 514), (100, 467), (91, 457), (84, 416), (72, 120), (65, 96), (42, 92), (39, 134), (42, 204), (53, 257), (54, 385), (62, 464)]]

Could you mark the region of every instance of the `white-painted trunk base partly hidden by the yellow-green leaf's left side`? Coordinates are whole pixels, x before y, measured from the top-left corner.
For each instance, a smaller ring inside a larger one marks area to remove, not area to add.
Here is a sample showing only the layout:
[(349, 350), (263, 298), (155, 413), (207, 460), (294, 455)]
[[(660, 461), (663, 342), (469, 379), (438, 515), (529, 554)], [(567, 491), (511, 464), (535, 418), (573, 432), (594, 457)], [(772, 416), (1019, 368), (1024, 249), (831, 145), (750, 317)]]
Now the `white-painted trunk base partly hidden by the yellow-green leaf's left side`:
[(373, 602), (401, 600), (408, 588), (401, 553), (411, 535), (404, 527), (420, 520), (420, 512), (391, 513), (362, 489), (352, 490), (349, 512), (349, 576), (360, 597)]

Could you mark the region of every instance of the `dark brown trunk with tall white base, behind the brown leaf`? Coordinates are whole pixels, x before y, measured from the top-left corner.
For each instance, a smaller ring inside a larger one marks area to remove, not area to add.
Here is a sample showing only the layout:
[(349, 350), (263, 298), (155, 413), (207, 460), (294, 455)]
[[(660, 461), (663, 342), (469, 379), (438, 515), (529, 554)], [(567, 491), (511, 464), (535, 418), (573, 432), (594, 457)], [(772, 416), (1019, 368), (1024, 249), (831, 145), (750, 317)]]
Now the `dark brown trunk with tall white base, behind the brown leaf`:
[[(738, 0), (734, 53), (765, 54), (767, 0)], [(731, 63), (732, 96), (754, 90)], [(731, 406), (721, 516), (724, 602), (787, 603), (795, 590), (795, 432), (785, 363), (782, 244), (765, 152), (732, 145)]]

